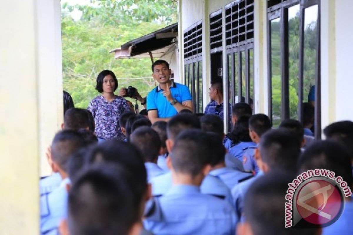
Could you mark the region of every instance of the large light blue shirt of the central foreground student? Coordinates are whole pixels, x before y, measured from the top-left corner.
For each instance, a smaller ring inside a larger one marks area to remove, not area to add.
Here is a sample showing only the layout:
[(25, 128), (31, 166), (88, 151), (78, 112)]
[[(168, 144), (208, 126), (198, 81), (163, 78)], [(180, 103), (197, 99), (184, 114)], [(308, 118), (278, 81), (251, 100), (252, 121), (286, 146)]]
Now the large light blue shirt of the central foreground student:
[(154, 234), (235, 234), (236, 218), (229, 202), (200, 192), (194, 185), (173, 185), (159, 201), (161, 218), (147, 217)]

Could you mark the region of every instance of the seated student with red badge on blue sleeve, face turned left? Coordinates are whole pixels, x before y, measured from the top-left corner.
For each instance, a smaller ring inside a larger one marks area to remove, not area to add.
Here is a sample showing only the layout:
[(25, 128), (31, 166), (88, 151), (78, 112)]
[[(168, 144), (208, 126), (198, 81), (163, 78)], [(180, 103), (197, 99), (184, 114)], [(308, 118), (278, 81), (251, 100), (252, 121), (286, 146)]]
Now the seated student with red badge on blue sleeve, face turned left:
[[(251, 140), (258, 144), (260, 143), (261, 136), (271, 129), (271, 122), (267, 115), (258, 113), (249, 118), (249, 136)], [(259, 167), (255, 161), (255, 149), (257, 146), (250, 146), (244, 149), (243, 166), (245, 171), (259, 172)]]

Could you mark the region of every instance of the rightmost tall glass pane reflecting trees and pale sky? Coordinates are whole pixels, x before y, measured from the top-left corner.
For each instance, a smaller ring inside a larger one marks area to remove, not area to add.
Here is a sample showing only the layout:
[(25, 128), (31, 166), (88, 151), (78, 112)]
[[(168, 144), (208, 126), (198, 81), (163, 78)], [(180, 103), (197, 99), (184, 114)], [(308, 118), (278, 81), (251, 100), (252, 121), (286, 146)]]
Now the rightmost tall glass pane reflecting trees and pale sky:
[(304, 11), (303, 102), (316, 99), (315, 94), (308, 99), (310, 88), (315, 86), (316, 47), (317, 5), (314, 5)]

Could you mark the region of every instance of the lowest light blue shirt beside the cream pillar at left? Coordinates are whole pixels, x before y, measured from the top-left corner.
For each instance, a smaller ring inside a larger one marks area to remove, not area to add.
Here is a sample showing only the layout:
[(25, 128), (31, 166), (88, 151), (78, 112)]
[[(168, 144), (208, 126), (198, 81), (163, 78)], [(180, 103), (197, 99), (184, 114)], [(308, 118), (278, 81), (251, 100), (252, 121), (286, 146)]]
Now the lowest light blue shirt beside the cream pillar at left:
[(40, 200), (41, 234), (46, 234), (48, 231), (55, 230), (60, 220), (66, 217), (67, 214), (67, 197), (66, 184), (70, 184), (68, 178), (61, 181), (58, 188), (49, 194), (45, 194)]

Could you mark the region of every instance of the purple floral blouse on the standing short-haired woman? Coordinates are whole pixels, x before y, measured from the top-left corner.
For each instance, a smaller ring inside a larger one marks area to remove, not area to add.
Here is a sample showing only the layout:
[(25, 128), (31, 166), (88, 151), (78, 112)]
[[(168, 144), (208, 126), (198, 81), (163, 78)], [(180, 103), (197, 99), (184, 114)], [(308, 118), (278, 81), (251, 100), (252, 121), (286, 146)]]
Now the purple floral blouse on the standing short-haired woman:
[(120, 130), (119, 118), (122, 113), (130, 111), (124, 98), (116, 95), (114, 100), (109, 103), (102, 95), (99, 95), (91, 100), (87, 109), (93, 115), (97, 137), (106, 140), (117, 137), (124, 140), (125, 136)]

